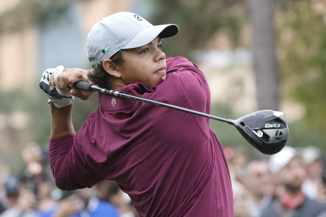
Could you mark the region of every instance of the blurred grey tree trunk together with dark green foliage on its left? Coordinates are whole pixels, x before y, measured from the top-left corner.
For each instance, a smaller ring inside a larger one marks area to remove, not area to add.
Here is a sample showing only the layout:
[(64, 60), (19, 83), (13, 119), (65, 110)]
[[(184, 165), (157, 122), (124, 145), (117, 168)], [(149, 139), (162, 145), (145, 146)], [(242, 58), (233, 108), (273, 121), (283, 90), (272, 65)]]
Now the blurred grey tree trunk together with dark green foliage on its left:
[[(196, 50), (212, 49), (215, 34), (223, 29), (229, 35), (230, 47), (243, 47), (240, 31), (253, 26), (253, 68), (257, 80), (258, 109), (278, 110), (279, 75), (275, 53), (273, 0), (169, 0), (157, 1), (154, 15), (157, 23), (176, 23), (181, 31), (164, 47), (169, 56), (193, 59)], [(248, 4), (248, 6), (246, 5)], [(249, 7), (249, 12), (246, 8)], [(163, 20), (162, 20), (163, 18)], [(246, 47), (251, 49), (251, 47)]]

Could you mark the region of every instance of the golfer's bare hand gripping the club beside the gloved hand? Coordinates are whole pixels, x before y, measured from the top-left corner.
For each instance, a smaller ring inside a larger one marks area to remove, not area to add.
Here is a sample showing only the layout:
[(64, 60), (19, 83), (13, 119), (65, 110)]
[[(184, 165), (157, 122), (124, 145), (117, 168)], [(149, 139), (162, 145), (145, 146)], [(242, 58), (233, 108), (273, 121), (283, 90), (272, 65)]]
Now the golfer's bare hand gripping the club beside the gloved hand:
[[(70, 91), (70, 94), (75, 97), (79, 97), (82, 100), (87, 100), (94, 91), (87, 91), (77, 88), (72, 88), (74, 84), (78, 81), (84, 81), (92, 83), (88, 77), (88, 70), (79, 69), (79, 68), (65, 68), (63, 73), (58, 75), (57, 86), (59, 89), (64, 91)], [(49, 79), (50, 89), (54, 90), (54, 76), (51, 75)]]

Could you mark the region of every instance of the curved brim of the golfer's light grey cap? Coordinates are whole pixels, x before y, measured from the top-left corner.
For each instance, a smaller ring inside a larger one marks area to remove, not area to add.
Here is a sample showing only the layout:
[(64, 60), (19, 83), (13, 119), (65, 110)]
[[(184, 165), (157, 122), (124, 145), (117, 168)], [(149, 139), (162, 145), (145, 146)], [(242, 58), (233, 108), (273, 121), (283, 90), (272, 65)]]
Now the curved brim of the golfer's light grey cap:
[(157, 36), (160, 36), (161, 38), (168, 38), (177, 34), (178, 32), (179, 27), (175, 24), (149, 26), (141, 30), (122, 49), (141, 47), (150, 43)]

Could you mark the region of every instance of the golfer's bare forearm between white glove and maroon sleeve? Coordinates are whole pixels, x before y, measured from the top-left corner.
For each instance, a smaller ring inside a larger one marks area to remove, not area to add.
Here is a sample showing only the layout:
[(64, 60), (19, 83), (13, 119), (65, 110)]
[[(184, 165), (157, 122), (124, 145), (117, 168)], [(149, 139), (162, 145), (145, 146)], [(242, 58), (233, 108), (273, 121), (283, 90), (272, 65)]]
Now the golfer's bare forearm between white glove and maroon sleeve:
[(62, 108), (57, 108), (52, 102), (50, 103), (51, 138), (58, 138), (74, 134), (75, 130), (71, 120), (72, 106), (73, 103)]

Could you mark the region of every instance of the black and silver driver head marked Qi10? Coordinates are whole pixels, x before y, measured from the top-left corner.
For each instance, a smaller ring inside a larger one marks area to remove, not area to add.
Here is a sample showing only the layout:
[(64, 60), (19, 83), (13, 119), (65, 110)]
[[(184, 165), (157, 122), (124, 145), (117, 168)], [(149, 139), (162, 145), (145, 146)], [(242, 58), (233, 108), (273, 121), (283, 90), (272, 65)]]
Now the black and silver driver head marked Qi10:
[(289, 128), (283, 112), (260, 110), (234, 121), (241, 135), (257, 150), (273, 155), (284, 147)]

